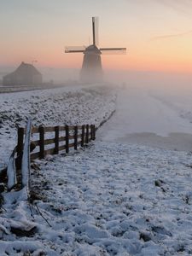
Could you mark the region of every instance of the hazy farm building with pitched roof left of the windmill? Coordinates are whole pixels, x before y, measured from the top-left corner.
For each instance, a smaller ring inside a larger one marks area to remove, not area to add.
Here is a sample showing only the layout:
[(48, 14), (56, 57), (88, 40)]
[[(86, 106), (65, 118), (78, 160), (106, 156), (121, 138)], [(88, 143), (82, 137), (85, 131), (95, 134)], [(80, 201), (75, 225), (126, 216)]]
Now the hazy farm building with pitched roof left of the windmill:
[(32, 64), (21, 62), (15, 72), (3, 77), (3, 85), (42, 84), (42, 74)]

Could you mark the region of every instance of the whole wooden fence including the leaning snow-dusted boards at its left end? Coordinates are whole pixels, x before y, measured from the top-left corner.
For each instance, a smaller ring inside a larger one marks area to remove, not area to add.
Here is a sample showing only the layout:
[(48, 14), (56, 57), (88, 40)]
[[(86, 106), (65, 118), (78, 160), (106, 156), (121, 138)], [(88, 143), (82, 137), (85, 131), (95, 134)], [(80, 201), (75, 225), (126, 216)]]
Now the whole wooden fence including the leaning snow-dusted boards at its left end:
[[(36, 139), (32, 140), (35, 136)], [(8, 190), (17, 186), (24, 189), (25, 197), (30, 197), (30, 162), (43, 159), (47, 154), (69, 153), (69, 148), (84, 147), (96, 138), (95, 125), (32, 126), (29, 119), (26, 128), (18, 128), (17, 146), (9, 158), (7, 168)], [(33, 151), (33, 149), (35, 149)]]

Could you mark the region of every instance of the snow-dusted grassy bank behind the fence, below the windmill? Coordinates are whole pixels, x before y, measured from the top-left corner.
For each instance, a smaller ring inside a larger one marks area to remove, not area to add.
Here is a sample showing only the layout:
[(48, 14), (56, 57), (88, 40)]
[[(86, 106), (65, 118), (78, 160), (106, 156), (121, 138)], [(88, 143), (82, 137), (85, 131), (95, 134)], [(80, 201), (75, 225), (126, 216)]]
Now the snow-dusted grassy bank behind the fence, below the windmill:
[(0, 94), (0, 167), (16, 144), (19, 125), (99, 125), (115, 108), (115, 93), (108, 86), (65, 86)]

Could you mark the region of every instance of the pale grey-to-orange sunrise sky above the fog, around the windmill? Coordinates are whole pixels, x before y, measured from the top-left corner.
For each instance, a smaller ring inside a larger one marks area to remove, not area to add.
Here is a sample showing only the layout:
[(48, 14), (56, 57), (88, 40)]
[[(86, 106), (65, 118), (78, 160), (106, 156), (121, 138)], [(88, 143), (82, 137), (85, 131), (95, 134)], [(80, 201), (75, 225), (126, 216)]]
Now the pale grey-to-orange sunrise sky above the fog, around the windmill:
[(91, 44), (98, 16), (99, 46), (127, 48), (104, 68), (192, 73), (191, 15), (191, 0), (0, 0), (0, 66), (80, 68), (65, 46)]

